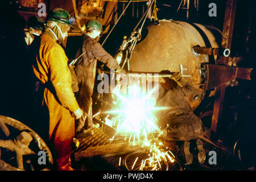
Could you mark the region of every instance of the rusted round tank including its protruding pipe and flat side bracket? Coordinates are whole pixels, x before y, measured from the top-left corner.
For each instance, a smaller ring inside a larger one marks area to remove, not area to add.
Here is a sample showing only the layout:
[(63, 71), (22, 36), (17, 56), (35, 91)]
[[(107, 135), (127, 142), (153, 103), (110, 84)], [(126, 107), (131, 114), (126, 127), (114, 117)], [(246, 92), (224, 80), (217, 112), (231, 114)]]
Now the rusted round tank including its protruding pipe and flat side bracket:
[(220, 48), (222, 35), (217, 28), (165, 19), (159, 22), (142, 30), (130, 60), (131, 72), (180, 72), (197, 90), (187, 96), (193, 110), (207, 90), (236, 78), (250, 79), (251, 69), (216, 65), (219, 56), (230, 55), (228, 48)]

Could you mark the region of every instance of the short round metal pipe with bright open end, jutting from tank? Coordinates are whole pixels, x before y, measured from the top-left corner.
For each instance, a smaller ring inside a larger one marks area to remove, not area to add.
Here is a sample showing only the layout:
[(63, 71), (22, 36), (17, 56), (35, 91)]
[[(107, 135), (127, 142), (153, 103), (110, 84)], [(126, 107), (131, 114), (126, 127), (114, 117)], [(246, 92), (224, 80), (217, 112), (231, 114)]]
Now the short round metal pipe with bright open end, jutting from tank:
[(202, 55), (220, 55), (228, 57), (230, 55), (230, 50), (228, 48), (212, 48), (212, 47), (193, 47), (193, 52)]

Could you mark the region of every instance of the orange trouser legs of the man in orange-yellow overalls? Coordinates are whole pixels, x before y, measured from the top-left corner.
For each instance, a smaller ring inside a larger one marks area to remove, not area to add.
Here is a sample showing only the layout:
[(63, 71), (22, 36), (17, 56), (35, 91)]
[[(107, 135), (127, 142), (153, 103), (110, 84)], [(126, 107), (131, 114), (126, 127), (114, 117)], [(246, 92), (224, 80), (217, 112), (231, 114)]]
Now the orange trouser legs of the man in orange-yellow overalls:
[(71, 165), (72, 141), (75, 137), (75, 118), (71, 112), (55, 100), (49, 90), (45, 92), (46, 105), (49, 110), (49, 139), (55, 150), (56, 169), (67, 171)]

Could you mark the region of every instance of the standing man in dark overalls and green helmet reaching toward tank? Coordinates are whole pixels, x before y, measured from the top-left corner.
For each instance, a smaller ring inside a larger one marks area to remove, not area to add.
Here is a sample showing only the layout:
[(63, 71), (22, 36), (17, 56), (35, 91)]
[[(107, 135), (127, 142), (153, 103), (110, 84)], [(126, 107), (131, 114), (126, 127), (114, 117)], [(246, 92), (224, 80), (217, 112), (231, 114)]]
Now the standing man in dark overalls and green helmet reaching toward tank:
[(77, 56), (85, 52), (84, 55), (77, 61), (75, 72), (79, 85), (79, 92), (76, 93), (77, 101), (84, 115), (79, 121), (76, 121), (77, 134), (86, 133), (92, 135), (89, 129), (97, 127), (92, 122), (92, 94), (94, 88), (94, 80), (96, 76), (97, 60), (106, 64), (110, 69), (116, 69), (116, 72), (121, 71), (121, 67), (104, 48), (97, 42), (97, 38), (102, 32), (102, 25), (98, 20), (89, 20), (86, 24), (86, 34), (83, 38), (83, 43), (77, 52)]

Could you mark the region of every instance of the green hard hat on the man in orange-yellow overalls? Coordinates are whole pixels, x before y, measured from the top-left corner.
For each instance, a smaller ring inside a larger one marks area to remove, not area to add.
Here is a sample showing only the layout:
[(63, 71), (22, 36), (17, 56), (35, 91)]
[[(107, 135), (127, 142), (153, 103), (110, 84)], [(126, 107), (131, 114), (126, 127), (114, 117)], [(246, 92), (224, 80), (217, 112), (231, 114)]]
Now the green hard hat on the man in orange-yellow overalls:
[(51, 10), (48, 13), (47, 20), (51, 20), (53, 22), (58, 22), (58, 23), (68, 24), (69, 26), (74, 28), (72, 26), (72, 23), (70, 22), (68, 11), (61, 9), (61, 8), (56, 8), (56, 9)]

